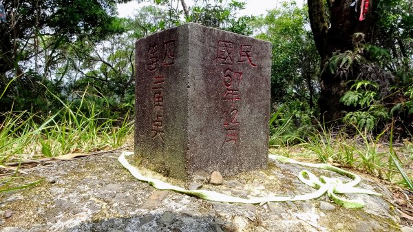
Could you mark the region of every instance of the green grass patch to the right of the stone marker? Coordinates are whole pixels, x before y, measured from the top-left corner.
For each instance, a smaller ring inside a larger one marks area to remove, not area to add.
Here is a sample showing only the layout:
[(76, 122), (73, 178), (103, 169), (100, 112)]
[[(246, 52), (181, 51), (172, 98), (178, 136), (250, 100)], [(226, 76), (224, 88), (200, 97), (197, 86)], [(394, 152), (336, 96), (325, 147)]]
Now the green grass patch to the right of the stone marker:
[[(270, 141), (282, 141), (282, 127), (273, 129), (274, 133)], [(329, 162), (341, 165), (350, 169), (357, 169), (372, 176), (377, 176), (383, 180), (388, 180), (396, 184), (402, 184), (413, 191), (412, 170), (409, 165), (412, 162), (412, 149), (410, 143), (404, 146), (394, 147), (393, 128), (385, 129), (381, 134), (372, 137), (367, 131), (355, 128), (357, 133), (350, 137), (345, 131), (333, 133), (319, 124), (318, 131), (307, 132), (306, 136), (296, 136), (294, 140), (299, 141), (295, 145), (279, 143), (272, 145), (282, 154), (289, 156), (304, 156), (317, 160), (316, 162)], [(297, 132), (297, 134), (299, 134)], [(383, 135), (390, 134), (388, 145), (383, 142)], [(291, 137), (291, 136), (290, 136)], [(396, 150), (403, 151), (407, 156), (398, 156)], [(297, 152), (299, 151), (299, 152)], [(294, 155), (292, 155), (294, 154)], [(407, 171), (406, 171), (407, 170)]]

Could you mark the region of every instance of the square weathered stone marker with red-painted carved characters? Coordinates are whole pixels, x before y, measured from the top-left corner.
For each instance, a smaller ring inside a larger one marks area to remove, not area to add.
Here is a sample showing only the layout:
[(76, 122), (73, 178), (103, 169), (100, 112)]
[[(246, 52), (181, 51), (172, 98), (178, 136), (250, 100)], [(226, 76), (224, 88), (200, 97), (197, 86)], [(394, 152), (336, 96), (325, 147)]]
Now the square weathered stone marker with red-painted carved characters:
[(180, 179), (266, 167), (271, 43), (187, 23), (136, 42), (136, 154)]

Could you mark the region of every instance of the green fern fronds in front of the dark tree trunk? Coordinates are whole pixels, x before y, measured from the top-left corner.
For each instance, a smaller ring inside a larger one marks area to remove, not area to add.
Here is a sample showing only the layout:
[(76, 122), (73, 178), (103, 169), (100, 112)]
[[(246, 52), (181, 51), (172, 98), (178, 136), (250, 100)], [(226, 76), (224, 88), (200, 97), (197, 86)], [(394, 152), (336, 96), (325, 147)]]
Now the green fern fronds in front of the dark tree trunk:
[(401, 112), (406, 111), (410, 114), (410, 101), (405, 99), (408, 94), (406, 97), (400, 94), (405, 88), (400, 85), (402, 78), (397, 76), (400, 73), (392, 72), (392, 67), (399, 65), (399, 61), (392, 58), (388, 49), (366, 43), (364, 37), (362, 33), (355, 33), (352, 38), (354, 49), (335, 52), (323, 72), (350, 80), (347, 82), (348, 92), (344, 92), (340, 99), (346, 106), (343, 122), (357, 125), (359, 129), (381, 131), (390, 115), (405, 117), (407, 114)]

